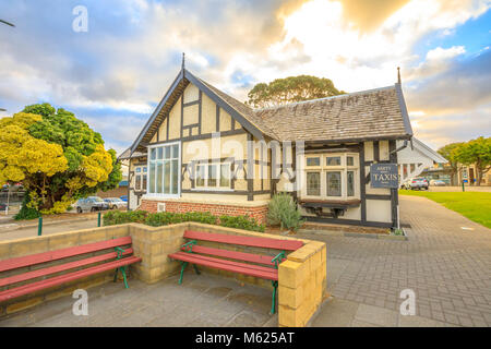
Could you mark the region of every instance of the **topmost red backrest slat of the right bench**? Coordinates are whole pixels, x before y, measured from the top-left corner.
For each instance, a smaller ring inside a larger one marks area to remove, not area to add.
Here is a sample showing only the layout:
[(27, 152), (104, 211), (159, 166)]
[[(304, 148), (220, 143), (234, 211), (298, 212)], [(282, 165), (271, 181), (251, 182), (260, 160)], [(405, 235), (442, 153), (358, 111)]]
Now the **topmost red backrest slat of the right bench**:
[(280, 240), (270, 238), (256, 238), (256, 237), (239, 237), (228, 236), (224, 233), (204, 232), (204, 231), (184, 231), (184, 238), (193, 240), (204, 240), (229, 244), (239, 244), (246, 246), (295, 251), (300, 249), (303, 243), (296, 240)]

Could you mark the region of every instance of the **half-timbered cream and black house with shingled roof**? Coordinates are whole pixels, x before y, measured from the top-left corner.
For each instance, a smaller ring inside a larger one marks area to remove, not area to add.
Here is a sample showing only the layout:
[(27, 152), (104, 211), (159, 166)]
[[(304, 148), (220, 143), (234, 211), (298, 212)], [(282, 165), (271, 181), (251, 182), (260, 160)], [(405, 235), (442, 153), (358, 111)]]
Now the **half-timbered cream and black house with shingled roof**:
[(130, 209), (264, 221), (289, 192), (308, 220), (394, 227), (397, 190), (372, 188), (370, 165), (411, 136), (400, 83), (254, 110), (182, 68), (119, 159)]

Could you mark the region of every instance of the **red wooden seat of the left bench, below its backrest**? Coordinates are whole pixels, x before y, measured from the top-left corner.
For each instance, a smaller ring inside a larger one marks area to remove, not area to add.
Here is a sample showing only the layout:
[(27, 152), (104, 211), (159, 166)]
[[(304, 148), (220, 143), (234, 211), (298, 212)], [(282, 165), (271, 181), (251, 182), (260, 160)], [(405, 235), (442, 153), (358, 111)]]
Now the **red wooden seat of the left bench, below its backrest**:
[(36, 281), (36, 282), (33, 282), (29, 285), (9, 289), (9, 290), (0, 292), (0, 302), (7, 301), (12, 298), (21, 297), (21, 296), (24, 296), (27, 293), (36, 292), (36, 291), (39, 291), (39, 290), (43, 290), (46, 288), (50, 288), (53, 286), (58, 286), (61, 284), (70, 282), (70, 281), (80, 279), (80, 278), (83, 278), (86, 276), (91, 276), (94, 274), (103, 273), (103, 272), (110, 270), (110, 269), (116, 269), (117, 267), (120, 267), (123, 265), (130, 265), (130, 264), (133, 264), (133, 263), (136, 263), (140, 261), (142, 261), (142, 258), (136, 257), (136, 256), (125, 257), (125, 258), (118, 260), (115, 262), (96, 265), (96, 266), (93, 266), (91, 268), (86, 268), (83, 270), (77, 270), (77, 272), (73, 272), (70, 274), (56, 276), (50, 279)]

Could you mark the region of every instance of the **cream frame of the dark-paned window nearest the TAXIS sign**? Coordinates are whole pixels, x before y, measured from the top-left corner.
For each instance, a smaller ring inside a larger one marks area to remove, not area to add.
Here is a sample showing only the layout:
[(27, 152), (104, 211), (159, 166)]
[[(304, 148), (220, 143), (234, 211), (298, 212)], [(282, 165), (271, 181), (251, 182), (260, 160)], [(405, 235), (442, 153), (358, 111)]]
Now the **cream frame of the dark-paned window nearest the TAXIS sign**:
[[(320, 166), (307, 166), (308, 158), (320, 157)], [(340, 165), (327, 166), (328, 157), (340, 157)], [(354, 165), (348, 166), (347, 158), (354, 158)], [(303, 156), (303, 184), (302, 197), (312, 200), (350, 200), (360, 198), (360, 156), (358, 153), (315, 153), (306, 154)], [(354, 195), (348, 196), (348, 171), (354, 171)], [(307, 194), (307, 172), (320, 172), (321, 173), (321, 195), (308, 195)], [(340, 196), (327, 196), (327, 173), (340, 172)]]

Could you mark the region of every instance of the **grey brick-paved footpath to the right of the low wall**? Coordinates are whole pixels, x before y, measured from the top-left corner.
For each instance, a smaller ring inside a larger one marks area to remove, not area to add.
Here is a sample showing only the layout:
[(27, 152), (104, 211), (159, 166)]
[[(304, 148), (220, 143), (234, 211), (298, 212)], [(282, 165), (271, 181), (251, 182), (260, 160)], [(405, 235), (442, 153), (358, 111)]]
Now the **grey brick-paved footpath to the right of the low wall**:
[[(313, 326), (491, 326), (491, 229), (426, 197), (399, 202), (408, 241), (299, 233), (327, 244), (333, 299)], [(400, 315), (404, 289), (415, 316)]]

